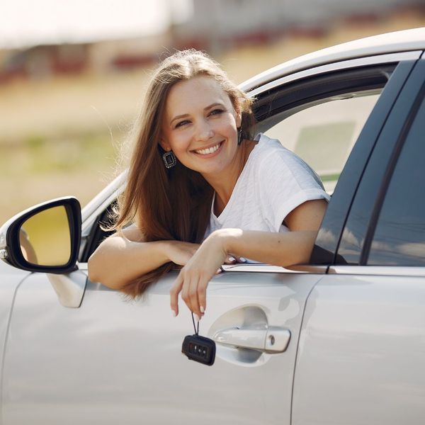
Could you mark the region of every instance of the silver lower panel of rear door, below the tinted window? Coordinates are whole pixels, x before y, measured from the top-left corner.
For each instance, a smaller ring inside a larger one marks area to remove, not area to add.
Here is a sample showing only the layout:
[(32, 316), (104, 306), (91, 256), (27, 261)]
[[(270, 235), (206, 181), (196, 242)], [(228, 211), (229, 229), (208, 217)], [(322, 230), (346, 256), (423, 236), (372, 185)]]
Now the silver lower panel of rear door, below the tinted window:
[(425, 275), (367, 269), (329, 274), (312, 290), (295, 367), (294, 425), (424, 423)]

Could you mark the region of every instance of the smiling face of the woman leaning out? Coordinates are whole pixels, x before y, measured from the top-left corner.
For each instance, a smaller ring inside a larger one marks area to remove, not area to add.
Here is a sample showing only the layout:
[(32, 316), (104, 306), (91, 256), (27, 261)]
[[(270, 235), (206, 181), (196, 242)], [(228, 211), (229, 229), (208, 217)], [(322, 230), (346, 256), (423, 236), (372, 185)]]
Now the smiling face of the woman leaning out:
[(241, 115), (220, 84), (197, 76), (174, 84), (166, 99), (162, 147), (203, 176), (219, 176), (237, 152)]

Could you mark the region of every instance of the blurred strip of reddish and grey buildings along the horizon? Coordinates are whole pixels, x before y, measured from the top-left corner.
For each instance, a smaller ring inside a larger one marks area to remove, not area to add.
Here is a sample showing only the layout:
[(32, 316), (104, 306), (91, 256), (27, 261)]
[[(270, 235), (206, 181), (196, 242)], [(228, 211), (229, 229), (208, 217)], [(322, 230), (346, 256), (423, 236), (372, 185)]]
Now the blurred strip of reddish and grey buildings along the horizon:
[[(140, 1), (152, 6), (151, 1)], [(16, 77), (40, 79), (149, 66), (164, 53), (188, 47), (218, 56), (227, 47), (267, 43), (288, 34), (320, 36), (341, 19), (374, 21), (403, 7), (424, 13), (425, 0), (162, 0), (155, 7), (156, 15), (167, 24), (158, 24), (153, 33), (143, 33), (147, 28), (140, 21), (139, 35), (124, 31), (120, 37), (96, 36), (85, 42), (69, 38), (66, 43), (51, 40), (0, 50), (0, 84)]]

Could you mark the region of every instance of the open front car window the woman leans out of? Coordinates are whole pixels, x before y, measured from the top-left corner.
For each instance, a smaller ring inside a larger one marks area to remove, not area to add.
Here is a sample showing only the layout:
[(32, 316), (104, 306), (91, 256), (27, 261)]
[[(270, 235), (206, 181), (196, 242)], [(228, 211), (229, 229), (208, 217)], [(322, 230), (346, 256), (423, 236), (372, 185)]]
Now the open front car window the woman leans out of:
[[(255, 94), (255, 132), (276, 138), (309, 164), (333, 193), (344, 164), (397, 64), (319, 74)], [(111, 208), (111, 207), (109, 207)], [(108, 210), (98, 216), (80, 261), (111, 232)]]

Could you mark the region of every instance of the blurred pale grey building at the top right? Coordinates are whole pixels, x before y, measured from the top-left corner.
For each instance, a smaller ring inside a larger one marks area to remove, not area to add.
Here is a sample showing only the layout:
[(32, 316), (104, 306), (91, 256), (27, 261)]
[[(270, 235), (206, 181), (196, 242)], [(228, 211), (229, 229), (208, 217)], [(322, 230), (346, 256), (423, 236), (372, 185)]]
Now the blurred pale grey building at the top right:
[[(229, 42), (273, 38), (285, 30), (325, 31), (344, 16), (378, 18), (399, 6), (425, 6), (424, 0), (193, 0), (193, 15), (177, 26), (178, 38), (215, 51)], [(196, 44), (196, 43), (194, 43)]]

